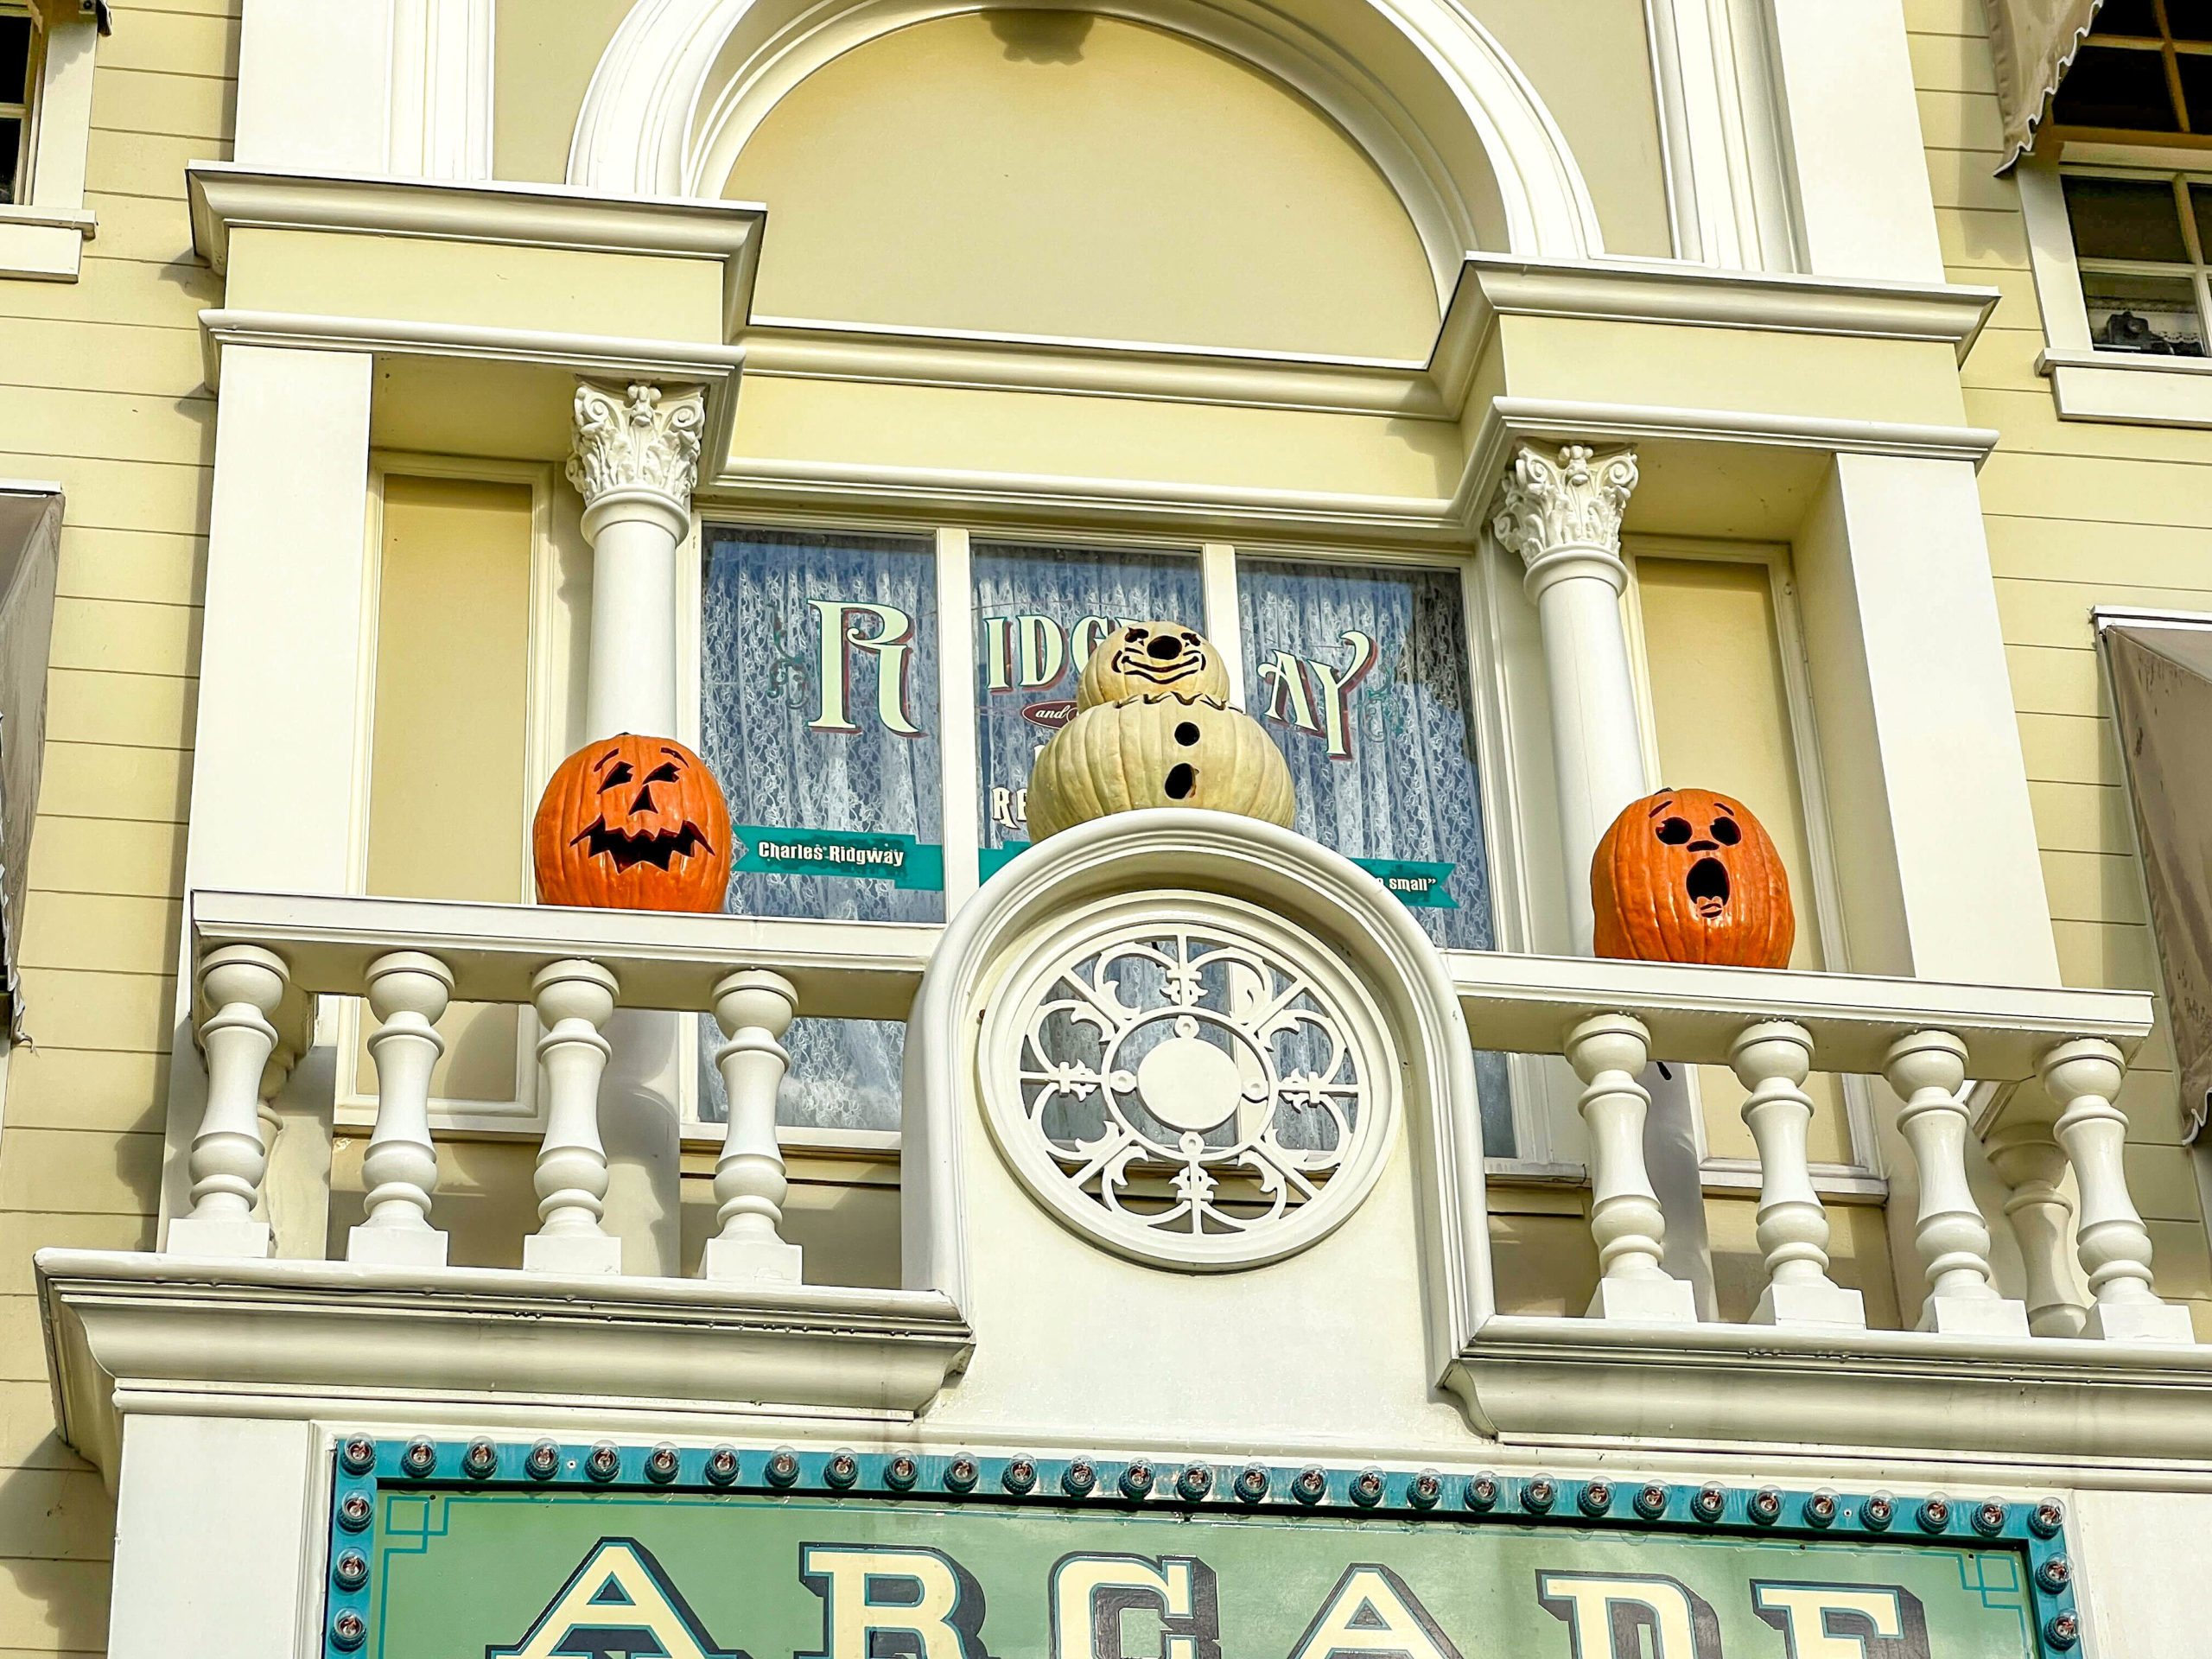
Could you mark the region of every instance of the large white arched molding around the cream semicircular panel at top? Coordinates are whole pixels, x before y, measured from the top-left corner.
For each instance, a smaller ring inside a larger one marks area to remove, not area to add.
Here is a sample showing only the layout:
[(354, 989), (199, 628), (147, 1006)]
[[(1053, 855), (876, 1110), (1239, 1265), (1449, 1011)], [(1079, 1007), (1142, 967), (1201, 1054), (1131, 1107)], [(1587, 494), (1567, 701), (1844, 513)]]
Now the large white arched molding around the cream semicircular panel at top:
[[(978, 9), (951, 0), (639, 0), (584, 95), (568, 184), (714, 197), (761, 117), (814, 69), (894, 29)], [(1546, 259), (1604, 252), (1588, 186), (1544, 100), (1451, 0), (1102, 0), (1079, 9), (1201, 40), (1327, 111), (1398, 190), (1440, 299), (1460, 254), (1482, 243)], [(1500, 219), (1502, 228), (1480, 234)]]

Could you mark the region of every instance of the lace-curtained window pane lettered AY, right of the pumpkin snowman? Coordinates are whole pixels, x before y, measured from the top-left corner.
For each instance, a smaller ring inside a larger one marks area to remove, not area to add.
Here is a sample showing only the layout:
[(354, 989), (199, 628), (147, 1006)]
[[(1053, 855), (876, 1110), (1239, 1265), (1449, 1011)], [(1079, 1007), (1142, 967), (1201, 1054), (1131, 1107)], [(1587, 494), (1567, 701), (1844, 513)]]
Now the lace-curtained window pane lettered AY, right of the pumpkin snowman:
[(1298, 830), (1363, 863), (1438, 945), (1491, 949), (1460, 573), (1245, 560), (1245, 699)]

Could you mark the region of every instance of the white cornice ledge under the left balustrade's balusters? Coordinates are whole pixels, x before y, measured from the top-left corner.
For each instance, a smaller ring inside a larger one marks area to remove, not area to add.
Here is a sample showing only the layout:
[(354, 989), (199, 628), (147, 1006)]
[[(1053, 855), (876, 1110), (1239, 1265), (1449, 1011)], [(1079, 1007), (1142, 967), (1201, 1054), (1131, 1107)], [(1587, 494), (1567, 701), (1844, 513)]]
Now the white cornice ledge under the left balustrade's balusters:
[(498, 1267), (35, 1256), (62, 1438), (115, 1478), (133, 1394), (263, 1418), (398, 1400), (686, 1416), (920, 1413), (975, 1338), (929, 1290), (557, 1279)]

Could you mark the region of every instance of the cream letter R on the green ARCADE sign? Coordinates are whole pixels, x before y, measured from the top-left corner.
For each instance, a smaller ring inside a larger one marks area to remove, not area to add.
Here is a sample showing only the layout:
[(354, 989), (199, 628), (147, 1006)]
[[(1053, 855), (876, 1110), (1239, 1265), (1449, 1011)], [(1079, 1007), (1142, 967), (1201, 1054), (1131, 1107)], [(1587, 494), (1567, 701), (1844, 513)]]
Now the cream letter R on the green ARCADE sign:
[(801, 1544), (799, 1577), (823, 1599), (799, 1659), (987, 1659), (982, 1586), (942, 1551)]

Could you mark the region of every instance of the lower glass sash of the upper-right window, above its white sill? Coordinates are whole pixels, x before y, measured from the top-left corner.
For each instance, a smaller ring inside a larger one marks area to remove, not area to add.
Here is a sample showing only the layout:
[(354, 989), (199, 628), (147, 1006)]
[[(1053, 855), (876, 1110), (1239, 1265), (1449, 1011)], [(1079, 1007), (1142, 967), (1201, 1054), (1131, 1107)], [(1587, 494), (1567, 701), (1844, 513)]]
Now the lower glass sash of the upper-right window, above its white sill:
[[(2203, 60), (2212, 66), (2212, 58)], [(2066, 173), (2090, 343), (2099, 352), (2205, 356), (2212, 336), (2212, 168)]]

